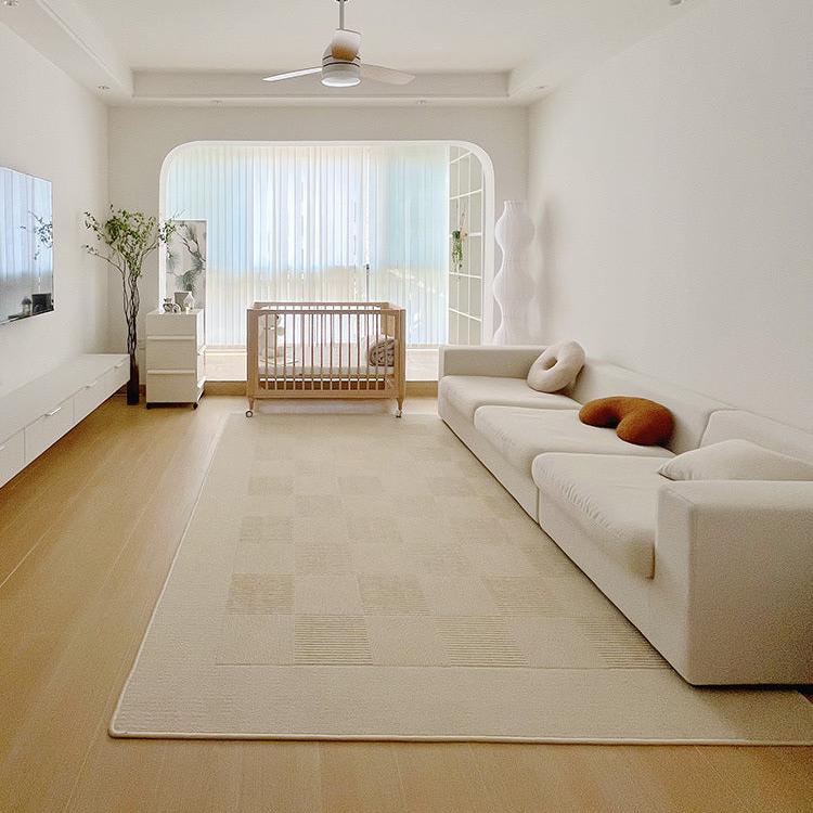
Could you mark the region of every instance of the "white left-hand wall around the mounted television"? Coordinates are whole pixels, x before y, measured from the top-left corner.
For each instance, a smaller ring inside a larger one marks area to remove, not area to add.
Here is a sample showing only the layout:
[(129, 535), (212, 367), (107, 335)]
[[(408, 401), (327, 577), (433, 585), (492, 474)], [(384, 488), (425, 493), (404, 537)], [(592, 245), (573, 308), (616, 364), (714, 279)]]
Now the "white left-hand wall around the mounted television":
[(107, 278), (82, 211), (107, 201), (107, 111), (0, 24), (0, 166), (53, 182), (52, 313), (0, 325), (0, 395), (80, 352), (103, 350)]

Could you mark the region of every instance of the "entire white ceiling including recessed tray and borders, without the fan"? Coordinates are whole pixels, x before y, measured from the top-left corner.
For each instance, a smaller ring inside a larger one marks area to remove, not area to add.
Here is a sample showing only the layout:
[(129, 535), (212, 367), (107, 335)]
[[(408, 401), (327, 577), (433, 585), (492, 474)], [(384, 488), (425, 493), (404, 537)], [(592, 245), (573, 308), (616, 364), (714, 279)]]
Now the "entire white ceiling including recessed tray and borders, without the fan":
[(336, 0), (18, 0), (11, 26), (111, 104), (527, 104), (707, 0), (348, 0), (367, 63), (414, 82), (260, 81), (320, 63)]

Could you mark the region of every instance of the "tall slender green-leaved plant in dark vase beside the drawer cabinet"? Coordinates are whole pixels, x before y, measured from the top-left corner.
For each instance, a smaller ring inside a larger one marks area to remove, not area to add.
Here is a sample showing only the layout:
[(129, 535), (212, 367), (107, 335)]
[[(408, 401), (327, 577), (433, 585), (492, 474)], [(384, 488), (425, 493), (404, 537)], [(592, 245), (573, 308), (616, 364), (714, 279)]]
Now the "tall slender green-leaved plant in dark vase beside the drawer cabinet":
[(89, 211), (85, 212), (85, 225), (93, 233), (98, 243), (106, 248), (100, 250), (95, 245), (86, 245), (85, 249), (94, 257), (100, 257), (118, 271), (121, 276), (121, 297), (127, 321), (127, 352), (130, 356), (130, 380), (127, 383), (127, 403), (139, 402), (139, 362), (136, 356), (138, 348), (139, 317), (139, 280), (144, 260), (158, 245), (166, 243), (173, 232), (171, 222), (158, 223), (155, 217), (147, 217), (141, 211), (114, 209), (111, 206), (107, 220), (98, 220)]

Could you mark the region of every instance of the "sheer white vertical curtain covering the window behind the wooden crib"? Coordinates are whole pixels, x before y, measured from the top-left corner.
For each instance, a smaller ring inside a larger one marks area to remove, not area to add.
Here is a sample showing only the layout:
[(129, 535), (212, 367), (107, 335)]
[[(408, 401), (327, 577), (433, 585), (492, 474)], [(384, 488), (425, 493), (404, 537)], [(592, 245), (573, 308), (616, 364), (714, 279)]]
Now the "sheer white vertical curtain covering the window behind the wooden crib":
[(190, 144), (164, 194), (207, 221), (210, 345), (245, 344), (255, 299), (387, 299), (410, 344), (446, 340), (448, 147)]

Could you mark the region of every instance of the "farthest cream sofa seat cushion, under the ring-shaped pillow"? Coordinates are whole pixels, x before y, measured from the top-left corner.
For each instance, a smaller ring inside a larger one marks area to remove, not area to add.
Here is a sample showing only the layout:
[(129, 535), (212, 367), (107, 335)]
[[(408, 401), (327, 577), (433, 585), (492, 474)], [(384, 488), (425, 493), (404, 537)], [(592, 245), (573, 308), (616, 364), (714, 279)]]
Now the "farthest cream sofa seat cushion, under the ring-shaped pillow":
[(545, 410), (579, 410), (572, 398), (555, 392), (537, 392), (525, 378), (502, 378), (488, 375), (446, 375), (438, 385), (438, 398), (461, 415), (474, 420), (483, 404), (528, 406)]

